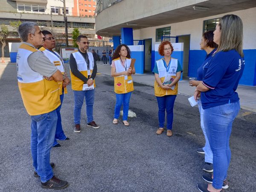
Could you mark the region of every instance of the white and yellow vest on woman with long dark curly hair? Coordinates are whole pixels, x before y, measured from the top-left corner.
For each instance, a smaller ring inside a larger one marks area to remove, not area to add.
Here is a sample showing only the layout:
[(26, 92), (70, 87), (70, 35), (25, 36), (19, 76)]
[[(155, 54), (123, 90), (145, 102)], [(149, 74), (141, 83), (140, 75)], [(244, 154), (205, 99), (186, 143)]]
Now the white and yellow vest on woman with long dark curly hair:
[[(126, 58), (125, 59), (125, 64), (126, 64), (126, 70), (131, 65), (131, 59)], [(121, 61), (119, 58), (113, 60), (115, 62), (116, 66), (116, 73), (122, 73), (125, 71), (125, 67), (122, 65)], [(115, 93), (128, 93), (134, 90), (134, 85), (133, 85), (133, 80), (131, 78), (131, 75), (127, 76), (127, 79), (125, 79), (124, 75), (120, 76), (115, 76), (114, 77), (114, 88), (115, 88)]]

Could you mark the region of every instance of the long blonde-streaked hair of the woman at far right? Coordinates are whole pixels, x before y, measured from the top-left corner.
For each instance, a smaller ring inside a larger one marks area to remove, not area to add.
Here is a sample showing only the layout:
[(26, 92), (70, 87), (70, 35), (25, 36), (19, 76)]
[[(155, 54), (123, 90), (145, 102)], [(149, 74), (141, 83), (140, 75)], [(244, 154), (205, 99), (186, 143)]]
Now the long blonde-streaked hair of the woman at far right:
[(229, 14), (221, 17), (218, 25), (221, 30), (217, 52), (235, 49), (241, 57), (243, 53), (243, 22), (237, 15)]

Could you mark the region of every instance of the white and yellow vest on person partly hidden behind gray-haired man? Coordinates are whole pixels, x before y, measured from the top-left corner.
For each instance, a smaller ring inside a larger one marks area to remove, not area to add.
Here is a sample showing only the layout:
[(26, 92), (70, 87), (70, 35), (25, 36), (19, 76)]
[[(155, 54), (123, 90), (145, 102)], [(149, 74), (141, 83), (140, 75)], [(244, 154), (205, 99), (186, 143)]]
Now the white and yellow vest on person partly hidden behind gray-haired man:
[[(39, 51), (42, 51), (44, 53), (44, 55), (47, 56), (47, 58), (50, 60), (50, 62), (52, 62), (58, 68), (58, 70), (61, 71), (62, 74), (64, 74), (64, 66), (63, 66), (64, 62), (61, 59), (61, 56), (56, 51), (54, 51), (54, 53), (57, 54), (58, 56), (56, 56), (51, 51), (46, 50), (46, 48), (44, 48), (44, 47), (41, 47), (39, 49)], [(59, 90), (60, 95), (62, 95), (62, 89), (63, 89), (62, 82), (63, 81), (58, 82), (58, 85), (60, 88), (60, 90)], [(64, 93), (67, 94), (67, 88), (64, 88)]]

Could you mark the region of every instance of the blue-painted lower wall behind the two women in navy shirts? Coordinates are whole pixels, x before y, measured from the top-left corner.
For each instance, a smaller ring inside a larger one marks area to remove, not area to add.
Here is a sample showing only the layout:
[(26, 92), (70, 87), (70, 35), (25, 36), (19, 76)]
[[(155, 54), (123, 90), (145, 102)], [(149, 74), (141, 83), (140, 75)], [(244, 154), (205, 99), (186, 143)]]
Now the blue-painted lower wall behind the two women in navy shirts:
[[(245, 68), (239, 81), (241, 85), (256, 85), (256, 49), (247, 49), (244, 51)], [(197, 69), (204, 62), (206, 52), (203, 50), (189, 51), (189, 74), (188, 76), (196, 77)]]

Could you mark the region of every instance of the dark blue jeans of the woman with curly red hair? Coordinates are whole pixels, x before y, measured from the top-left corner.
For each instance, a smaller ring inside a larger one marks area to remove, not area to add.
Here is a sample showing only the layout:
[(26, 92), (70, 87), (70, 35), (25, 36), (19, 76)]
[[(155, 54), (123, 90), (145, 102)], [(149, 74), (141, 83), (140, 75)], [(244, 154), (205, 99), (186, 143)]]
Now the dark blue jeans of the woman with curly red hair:
[(177, 95), (157, 96), (159, 127), (164, 128), (165, 111), (167, 113), (167, 130), (172, 130), (173, 107)]

